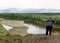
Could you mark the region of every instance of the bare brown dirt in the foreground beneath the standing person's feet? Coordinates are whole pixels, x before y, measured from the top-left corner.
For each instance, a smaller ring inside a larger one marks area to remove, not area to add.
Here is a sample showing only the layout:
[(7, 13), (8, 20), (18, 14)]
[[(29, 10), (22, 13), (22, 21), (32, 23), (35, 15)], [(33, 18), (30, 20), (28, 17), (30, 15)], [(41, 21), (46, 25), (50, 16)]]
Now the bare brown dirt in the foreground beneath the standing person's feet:
[(25, 43), (60, 43), (59, 36), (30, 35), (25, 37), (24, 41)]

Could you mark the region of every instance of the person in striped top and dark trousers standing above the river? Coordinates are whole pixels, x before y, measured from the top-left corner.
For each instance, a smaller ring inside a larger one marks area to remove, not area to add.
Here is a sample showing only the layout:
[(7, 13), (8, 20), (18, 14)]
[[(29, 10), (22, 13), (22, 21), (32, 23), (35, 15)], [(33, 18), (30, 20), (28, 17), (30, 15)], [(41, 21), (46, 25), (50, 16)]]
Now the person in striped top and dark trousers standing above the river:
[(48, 33), (49, 33), (49, 35), (51, 35), (54, 23), (55, 23), (55, 21), (52, 20), (51, 17), (49, 17), (48, 20), (46, 21), (46, 35), (48, 35)]

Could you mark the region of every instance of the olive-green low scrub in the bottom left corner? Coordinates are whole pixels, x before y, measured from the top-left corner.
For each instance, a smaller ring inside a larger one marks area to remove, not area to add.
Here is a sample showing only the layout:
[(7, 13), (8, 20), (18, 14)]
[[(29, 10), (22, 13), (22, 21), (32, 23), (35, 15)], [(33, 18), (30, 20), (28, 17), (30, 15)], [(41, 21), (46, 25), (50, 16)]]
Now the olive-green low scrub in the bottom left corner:
[(0, 36), (1, 43), (23, 43), (23, 38), (20, 35), (3, 35)]

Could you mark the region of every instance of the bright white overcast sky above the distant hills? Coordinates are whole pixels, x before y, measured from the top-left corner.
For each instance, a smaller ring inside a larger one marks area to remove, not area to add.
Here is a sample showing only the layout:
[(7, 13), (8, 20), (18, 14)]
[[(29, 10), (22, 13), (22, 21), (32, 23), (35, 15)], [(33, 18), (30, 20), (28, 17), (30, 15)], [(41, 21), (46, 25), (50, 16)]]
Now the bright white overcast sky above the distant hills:
[(0, 9), (6, 8), (60, 9), (60, 0), (0, 0)]

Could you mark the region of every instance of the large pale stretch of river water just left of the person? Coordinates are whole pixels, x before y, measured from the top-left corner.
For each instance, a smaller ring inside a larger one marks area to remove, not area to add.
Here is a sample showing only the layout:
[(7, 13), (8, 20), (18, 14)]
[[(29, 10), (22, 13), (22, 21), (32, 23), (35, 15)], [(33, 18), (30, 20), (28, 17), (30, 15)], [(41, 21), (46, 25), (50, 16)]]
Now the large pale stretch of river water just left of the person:
[(39, 26), (35, 26), (33, 24), (25, 24), (25, 25), (29, 27), (29, 29), (27, 30), (29, 34), (45, 34), (46, 32), (45, 29)]

